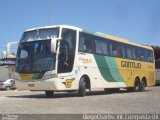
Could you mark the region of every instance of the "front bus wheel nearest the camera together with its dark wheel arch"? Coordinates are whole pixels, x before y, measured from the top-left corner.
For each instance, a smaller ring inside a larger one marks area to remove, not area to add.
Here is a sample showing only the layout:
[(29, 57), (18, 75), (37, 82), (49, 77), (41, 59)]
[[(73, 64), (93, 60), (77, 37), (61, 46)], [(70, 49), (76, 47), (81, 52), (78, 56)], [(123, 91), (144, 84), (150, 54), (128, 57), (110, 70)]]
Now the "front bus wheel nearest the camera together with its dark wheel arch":
[(90, 90), (90, 78), (88, 75), (83, 75), (79, 80), (79, 89), (78, 89), (78, 96), (85, 96), (86, 89)]

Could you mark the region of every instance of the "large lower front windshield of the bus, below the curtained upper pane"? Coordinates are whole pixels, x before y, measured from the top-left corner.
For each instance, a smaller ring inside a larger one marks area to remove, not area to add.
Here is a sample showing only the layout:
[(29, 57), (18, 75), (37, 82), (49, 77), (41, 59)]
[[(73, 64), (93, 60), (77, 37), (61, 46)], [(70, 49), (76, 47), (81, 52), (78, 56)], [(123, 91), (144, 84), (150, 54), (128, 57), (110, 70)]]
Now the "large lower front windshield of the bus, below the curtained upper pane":
[(16, 60), (17, 72), (42, 72), (55, 69), (56, 55), (51, 53), (50, 48), (51, 40), (21, 43)]

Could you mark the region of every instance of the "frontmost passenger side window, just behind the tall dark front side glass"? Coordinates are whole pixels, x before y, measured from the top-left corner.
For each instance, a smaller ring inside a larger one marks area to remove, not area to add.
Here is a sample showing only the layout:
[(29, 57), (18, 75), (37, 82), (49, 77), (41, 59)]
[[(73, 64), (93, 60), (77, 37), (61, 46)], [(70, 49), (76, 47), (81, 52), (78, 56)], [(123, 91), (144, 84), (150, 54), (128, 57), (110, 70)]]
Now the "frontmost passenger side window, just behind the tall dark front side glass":
[(86, 53), (94, 53), (94, 38), (92, 35), (80, 33), (79, 51)]

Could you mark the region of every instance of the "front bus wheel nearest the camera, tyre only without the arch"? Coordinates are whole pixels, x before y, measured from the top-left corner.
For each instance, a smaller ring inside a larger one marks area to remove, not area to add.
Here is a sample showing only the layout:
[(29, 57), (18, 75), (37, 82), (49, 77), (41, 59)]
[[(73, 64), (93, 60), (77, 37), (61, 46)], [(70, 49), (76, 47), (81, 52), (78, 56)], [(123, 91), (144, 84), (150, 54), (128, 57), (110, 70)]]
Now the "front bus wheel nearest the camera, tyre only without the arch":
[(86, 95), (86, 82), (85, 82), (85, 78), (82, 77), (79, 81), (78, 96), (83, 97), (85, 95)]

